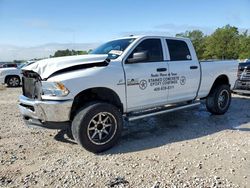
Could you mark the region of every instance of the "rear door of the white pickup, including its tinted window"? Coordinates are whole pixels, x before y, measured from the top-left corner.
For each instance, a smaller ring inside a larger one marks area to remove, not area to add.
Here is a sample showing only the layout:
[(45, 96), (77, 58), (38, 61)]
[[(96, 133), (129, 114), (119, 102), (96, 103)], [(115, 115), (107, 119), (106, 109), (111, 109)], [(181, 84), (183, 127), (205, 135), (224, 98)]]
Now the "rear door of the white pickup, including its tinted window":
[(185, 40), (165, 39), (165, 42), (169, 52), (168, 103), (193, 100), (200, 83), (197, 57), (191, 54)]

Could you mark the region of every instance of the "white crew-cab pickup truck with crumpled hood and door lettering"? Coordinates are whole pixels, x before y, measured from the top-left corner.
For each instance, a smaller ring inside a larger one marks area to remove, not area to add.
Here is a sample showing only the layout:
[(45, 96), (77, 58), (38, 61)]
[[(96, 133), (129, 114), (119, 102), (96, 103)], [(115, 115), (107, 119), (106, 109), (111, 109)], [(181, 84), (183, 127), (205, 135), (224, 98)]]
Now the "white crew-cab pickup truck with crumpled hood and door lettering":
[(224, 114), (237, 66), (237, 61), (199, 62), (189, 39), (131, 36), (89, 55), (25, 67), (19, 108), (28, 125), (70, 127), (81, 146), (102, 152), (121, 137), (124, 119), (194, 107), (201, 99), (210, 113)]

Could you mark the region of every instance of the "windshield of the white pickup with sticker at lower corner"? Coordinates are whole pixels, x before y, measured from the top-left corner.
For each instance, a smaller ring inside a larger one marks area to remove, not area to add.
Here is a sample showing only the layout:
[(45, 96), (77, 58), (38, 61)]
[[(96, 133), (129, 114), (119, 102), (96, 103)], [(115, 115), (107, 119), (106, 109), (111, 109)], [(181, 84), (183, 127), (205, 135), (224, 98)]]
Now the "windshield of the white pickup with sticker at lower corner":
[(134, 40), (135, 38), (110, 41), (93, 50), (91, 54), (108, 54), (109, 59), (116, 59)]

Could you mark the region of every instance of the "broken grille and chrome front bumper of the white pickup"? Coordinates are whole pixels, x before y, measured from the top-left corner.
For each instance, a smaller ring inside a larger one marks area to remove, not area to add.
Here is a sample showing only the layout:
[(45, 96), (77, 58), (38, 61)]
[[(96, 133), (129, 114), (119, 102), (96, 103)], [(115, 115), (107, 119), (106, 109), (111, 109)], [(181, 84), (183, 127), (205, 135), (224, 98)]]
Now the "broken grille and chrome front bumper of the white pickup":
[(70, 126), (70, 110), (73, 100), (44, 100), (42, 79), (39, 74), (23, 70), (23, 95), (19, 97), (19, 109), (25, 123), (31, 127), (66, 129)]

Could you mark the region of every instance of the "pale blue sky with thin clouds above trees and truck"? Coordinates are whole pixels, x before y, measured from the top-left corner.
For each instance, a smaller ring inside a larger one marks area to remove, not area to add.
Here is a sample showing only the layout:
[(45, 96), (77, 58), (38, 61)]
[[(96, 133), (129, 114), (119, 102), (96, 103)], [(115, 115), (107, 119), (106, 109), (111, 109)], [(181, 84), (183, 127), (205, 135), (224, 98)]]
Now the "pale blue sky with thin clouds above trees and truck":
[(0, 0), (0, 61), (88, 50), (129, 34), (250, 29), (249, 7), (250, 0)]

